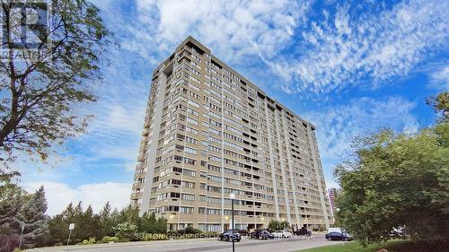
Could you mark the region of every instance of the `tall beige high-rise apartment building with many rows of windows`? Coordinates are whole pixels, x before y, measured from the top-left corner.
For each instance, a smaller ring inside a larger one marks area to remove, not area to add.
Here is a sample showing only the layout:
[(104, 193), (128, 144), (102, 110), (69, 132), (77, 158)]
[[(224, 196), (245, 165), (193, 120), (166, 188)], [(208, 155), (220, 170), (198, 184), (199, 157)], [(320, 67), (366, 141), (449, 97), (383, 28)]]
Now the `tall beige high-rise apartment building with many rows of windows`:
[(131, 201), (170, 230), (331, 221), (315, 126), (272, 100), (197, 40), (153, 73)]

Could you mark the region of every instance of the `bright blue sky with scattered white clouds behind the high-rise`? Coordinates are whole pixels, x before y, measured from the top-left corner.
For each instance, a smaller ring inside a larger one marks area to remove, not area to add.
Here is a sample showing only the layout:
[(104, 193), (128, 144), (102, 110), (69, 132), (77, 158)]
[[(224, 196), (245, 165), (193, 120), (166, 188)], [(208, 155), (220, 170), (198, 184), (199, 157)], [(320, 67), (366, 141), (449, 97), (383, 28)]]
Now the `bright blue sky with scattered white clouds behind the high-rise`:
[(48, 213), (82, 200), (128, 204), (152, 70), (191, 35), (317, 126), (328, 187), (355, 135), (432, 124), (425, 98), (449, 90), (449, 1), (96, 0), (111, 47), (84, 135), (46, 164), (19, 161), (44, 185)]

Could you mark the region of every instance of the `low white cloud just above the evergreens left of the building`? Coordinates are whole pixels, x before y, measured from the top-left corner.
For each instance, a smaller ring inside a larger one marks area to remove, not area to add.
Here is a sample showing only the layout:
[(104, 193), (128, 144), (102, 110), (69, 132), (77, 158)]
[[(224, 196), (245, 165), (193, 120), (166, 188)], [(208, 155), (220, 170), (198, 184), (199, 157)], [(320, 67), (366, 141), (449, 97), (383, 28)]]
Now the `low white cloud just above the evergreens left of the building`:
[(48, 201), (49, 215), (61, 213), (71, 202), (77, 204), (83, 202), (84, 209), (92, 204), (94, 213), (110, 202), (111, 206), (122, 208), (129, 204), (131, 184), (126, 183), (95, 183), (86, 184), (80, 187), (69, 187), (64, 183), (57, 182), (29, 182), (24, 185), (26, 190), (32, 192), (40, 186), (44, 186)]

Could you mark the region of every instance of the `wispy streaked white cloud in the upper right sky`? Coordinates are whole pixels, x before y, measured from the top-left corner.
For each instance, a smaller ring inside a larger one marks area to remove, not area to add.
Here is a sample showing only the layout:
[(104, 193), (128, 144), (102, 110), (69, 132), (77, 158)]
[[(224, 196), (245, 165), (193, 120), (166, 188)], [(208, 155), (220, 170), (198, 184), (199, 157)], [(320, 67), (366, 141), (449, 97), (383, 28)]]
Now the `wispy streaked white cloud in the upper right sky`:
[[(369, 82), (374, 87), (407, 76), (431, 52), (447, 48), (448, 1), (404, 1), (380, 13), (351, 16), (339, 7), (333, 20), (313, 22), (294, 56), (266, 62), (289, 91), (315, 93)], [(305, 48), (305, 49), (304, 49)]]

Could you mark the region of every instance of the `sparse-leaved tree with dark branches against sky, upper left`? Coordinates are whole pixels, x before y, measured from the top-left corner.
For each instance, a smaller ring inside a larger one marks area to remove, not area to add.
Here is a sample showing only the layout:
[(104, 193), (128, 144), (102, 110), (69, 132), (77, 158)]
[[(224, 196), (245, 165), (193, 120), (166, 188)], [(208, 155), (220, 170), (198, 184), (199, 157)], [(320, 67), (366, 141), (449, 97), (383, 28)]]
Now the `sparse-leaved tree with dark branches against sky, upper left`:
[(51, 29), (29, 27), (40, 32), (40, 56), (17, 57), (12, 38), (21, 15), (14, 3), (1, 5), (7, 53), (0, 62), (0, 156), (5, 163), (14, 160), (15, 152), (45, 160), (53, 143), (84, 130), (87, 117), (76, 116), (72, 108), (96, 100), (92, 83), (101, 79), (101, 56), (112, 40), (95, 5), (52, 0)]

